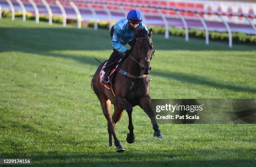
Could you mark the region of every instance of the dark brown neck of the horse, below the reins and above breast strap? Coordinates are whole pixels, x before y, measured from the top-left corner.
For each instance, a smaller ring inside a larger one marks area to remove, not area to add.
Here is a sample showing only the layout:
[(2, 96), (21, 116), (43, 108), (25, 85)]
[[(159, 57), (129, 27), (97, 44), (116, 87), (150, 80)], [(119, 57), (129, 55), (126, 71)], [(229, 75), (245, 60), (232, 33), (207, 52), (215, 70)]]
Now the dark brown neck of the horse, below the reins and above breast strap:
[[(137, 59), (138, 55), (136, 53), (136, 48), (133, 49), (131, 56), (133, 56), (134, 59)], [(124, 63), (124, 69), (128, 73), (131, 73), (135, 76), (143, 75), (143, 71), (141, 70), (139, 64), (133, 60), (130, 56), (126, 59)]]

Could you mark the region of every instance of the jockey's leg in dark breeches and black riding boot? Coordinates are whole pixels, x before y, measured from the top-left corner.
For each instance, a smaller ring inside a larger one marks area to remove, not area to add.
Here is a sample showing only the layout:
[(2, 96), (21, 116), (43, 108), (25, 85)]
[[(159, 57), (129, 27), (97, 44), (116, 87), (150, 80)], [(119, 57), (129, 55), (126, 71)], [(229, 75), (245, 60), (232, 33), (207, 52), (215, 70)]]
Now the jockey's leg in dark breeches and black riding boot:
[(105, 74), (101, 79), (101, 83), (108, 83), (109, 82), (108, 81), (108, 75), (110, 74), (110, 72), (113, 69), (113, 66), (115, 65), (115, 64), (111, 64), (111, 63), (115, 62), (115, 60), (118, 58), (118, 55), (119, 55), (118, 51), (113, 51), (113, 53), (110, 55), (110, 57), (108, 59), (108, 63), (106, 64), (107, 68), (104, 69)]

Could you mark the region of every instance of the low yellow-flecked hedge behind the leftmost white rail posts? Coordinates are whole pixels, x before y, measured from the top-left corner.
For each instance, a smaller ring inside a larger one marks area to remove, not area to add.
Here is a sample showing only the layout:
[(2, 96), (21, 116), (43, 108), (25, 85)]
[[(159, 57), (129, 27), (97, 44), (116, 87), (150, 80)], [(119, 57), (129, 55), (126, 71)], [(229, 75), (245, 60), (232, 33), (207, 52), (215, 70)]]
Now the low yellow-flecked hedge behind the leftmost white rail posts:
[[(2, 17), (3, 18), (11, 18), (12, 13), (9, 10), (3, 10), (2, 11)], [(22, 11), (17, 11), (15, 12), (15, 18), (23, 17)], [(27, 20), (35, 20), (36, 16), (33, 15), (33, 13), (26, 12), (26, 19)], [(49, 21), (49, 16), (48, 15), (39, 15), (39, 20), (40, 21)], [(53, 23), (63, 23), (63, 18), (59, 16), (52, 16), (52, 22)], [(75, 24), (77, 23), (77, 19), (67, 19), (67, 24)]]

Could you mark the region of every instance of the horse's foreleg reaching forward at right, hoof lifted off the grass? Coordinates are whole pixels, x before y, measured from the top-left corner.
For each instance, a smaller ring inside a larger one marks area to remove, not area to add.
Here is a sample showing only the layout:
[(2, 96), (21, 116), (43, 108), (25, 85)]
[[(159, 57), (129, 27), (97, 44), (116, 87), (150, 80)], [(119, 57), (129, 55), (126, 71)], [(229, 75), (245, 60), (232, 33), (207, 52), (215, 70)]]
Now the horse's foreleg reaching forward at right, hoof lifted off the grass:
[(150, 98), (150, 96), (147, 95), (147, 96), (144, 96), (143, 98), (141, 98), (139, 106), (141, 107), (141, 109), (143, 109), (145, 111), (145, 113), (148, 115), (148, 117), (151, 120), (151, 123), (153, 125), (153, 129), (155, 131), (154, 132), (154, 137), (162, 138), (162, 134), (159, 131), (158, 124), (156, 123), (155, 114), (154, 114), (153, 110), (151, 109), (151, 98)]

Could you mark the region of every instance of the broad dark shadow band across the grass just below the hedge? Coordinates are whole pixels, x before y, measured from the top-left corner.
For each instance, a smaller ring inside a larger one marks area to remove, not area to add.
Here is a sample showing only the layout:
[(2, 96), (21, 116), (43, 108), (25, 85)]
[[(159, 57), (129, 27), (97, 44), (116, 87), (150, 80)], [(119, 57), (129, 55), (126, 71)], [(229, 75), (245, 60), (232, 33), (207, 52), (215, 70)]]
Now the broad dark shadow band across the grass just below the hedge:
[[(7, 47), (0, 51), (8, 50), (8, 46), (15, 45), (38, 49), (51, 50), (110, 50), (111, 39), (108, 30), (93, 30), (90, 28), (0, 28), (0, 37)], [(191, 38), (189, 42), (184, 37), (171, 36), (165, 39), (164, 35), (154, 35), (155, 50), (192, 50), (192, 51), (255, 51), (253, 45), (233, 45), (228, 43), (210, 41), (205, 45), (204, 39)], [(9, 45), (10, 44), (10, 45)], [(0, 40), (1, 45), (1, 40)], [(12, 50), (13, 48), (11, 48)], [(17, 47), (17, 51), (19, 51)]]

